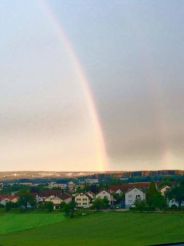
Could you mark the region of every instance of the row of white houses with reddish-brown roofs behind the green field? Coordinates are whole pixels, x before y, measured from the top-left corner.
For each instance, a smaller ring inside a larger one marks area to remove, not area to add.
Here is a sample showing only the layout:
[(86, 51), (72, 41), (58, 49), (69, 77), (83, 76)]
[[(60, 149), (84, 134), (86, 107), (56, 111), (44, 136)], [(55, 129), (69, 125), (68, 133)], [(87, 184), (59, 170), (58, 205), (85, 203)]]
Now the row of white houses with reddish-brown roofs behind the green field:
[[(90, 208), (95, 201), (95, 199), (104, 199), (106, 198), (110, 206), (113, 206), (116, 203), (115, 194), (124, 194), (124, 203), (123, 207), (130, 208), (134, 206), (136, 200), (145, 200), (146, 199), (146, 190), (149, 187), (149, 183), (137, 183), (137, 184), (124, 184), (121, 186), (111, 186), (108, 191), (102, 190), (97, 194), (92, 192), (83, 192), (83, 193), (63, 193), (59, 190), (47, 190), (44, 192), (34, 193), (37, 204), (51, 202), (54, 206), (54, 209), (60, 207), (62, 203), (70, 203), (72, 200), (76, 202), (77, 207), (79, 208)], [(164, 196), (170, 187), (164, 186), (160, 189), (161, 194)], [(16, 203), (18, 201), (18, 196), (0, 196), (0, 205), (5, 206), (7, 202)], [(179, 206), (175, 200), (168, 201), (169, 207)], [(184, 205), (184, 203), (183, 203)]]

